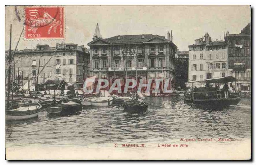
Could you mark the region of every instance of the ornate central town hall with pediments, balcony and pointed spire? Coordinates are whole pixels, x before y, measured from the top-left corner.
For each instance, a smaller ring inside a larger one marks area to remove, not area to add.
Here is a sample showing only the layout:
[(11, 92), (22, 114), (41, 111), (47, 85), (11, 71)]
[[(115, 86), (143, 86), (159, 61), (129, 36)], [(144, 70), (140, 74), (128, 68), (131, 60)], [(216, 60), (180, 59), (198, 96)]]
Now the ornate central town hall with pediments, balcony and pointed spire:
[(102, 38), (97, 24), (93, 41), (88, 46), (92, 59), (89, 64), (90, 75), (108, 79), (110, 85), (115, 79), (120, 79), (124, 86), (127, 71), (127, 79), (137, 79), (137, 82), (140, 79), (145, 82), (148, 79), (163, 79), (163, 82), (170, 79), (169, 88), (175, 86), (174, 55), (177, 46), (172, 42), (169, 32), (167, 39), (152, 34)]

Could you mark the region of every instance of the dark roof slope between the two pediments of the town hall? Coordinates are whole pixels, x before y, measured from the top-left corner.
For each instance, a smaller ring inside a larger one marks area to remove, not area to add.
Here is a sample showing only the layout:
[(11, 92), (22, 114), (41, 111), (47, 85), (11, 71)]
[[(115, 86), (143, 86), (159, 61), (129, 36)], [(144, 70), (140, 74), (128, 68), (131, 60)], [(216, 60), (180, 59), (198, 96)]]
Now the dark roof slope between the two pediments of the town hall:
[[(155, 35), (152, 34), (145, 34), (144, 38), (142, 38), (143, 34), (140, 35), (117, 35), (111, 38), (105, 38), (105, 40), (114, 43), (114, 44), (118, 44), (118, 43), (143, 43), (144, 41), (147, 41), (153, 37), (155, 37)], [(118, 37), (120, 37), (120, 39), (118, 39)]]

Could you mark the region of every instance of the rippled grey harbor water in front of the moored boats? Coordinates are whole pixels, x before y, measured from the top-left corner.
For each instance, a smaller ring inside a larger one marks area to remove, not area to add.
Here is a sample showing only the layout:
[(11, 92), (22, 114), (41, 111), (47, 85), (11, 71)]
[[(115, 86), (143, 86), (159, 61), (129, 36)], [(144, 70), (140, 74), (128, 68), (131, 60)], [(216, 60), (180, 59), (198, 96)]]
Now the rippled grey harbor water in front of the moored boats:
[(6, 123), (6, 147), (104, 146), (159, 143), (180, 138), (251, 138), (251, 106), (200, 107), (183, 97), (148, 97), (143, 114), (123, 108), (84, 107), (78, 114)]

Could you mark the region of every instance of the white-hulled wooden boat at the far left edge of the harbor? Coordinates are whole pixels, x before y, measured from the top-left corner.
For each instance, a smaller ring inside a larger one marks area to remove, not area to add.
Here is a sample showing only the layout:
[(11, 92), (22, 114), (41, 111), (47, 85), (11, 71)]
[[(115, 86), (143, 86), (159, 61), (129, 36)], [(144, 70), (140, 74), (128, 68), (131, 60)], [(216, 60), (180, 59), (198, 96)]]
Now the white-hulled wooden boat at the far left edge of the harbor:
[(36, 117), (41, 108), (42, 106), (39, 103), (30, 103), (15, 109), (6, 110), (6, 120), (24, 120)]

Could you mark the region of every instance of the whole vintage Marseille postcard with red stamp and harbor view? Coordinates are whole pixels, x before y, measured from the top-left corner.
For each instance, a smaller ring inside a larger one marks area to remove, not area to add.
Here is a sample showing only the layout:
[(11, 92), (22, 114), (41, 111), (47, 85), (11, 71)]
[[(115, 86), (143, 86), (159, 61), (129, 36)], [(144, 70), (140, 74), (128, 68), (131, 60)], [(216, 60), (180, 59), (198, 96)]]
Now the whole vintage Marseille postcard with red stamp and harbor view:
[(250, 160), (251, 6), (5, 6), (7, 160)]

